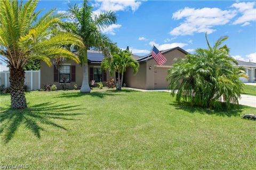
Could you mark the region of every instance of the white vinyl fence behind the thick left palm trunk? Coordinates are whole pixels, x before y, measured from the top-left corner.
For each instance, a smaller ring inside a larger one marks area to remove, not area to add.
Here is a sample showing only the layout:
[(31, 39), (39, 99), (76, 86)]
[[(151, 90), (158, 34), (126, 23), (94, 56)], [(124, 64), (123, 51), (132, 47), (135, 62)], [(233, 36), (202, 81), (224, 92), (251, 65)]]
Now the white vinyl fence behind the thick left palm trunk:
[[(0, 72), (0, 85), (4, 84), (4, 87), (10, 86), (10, 72), (3, 71)], [(28, 87), (28, 90), (37, 90), (40, 89), (41, 75), (40, 70), (29, 70), (25, 71), (25, 85)]]

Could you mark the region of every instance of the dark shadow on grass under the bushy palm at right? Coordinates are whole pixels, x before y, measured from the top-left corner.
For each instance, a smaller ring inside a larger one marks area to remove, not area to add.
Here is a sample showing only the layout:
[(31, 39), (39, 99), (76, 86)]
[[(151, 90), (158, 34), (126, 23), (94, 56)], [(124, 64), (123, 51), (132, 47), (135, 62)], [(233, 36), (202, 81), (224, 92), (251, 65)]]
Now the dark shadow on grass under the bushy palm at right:
[(218, 115), (218, 116), (238, 116), (241, 115), (242, 111), (246, 106), (243, 105), (233, 105), (231, 108), (223, 109), (210, 109), (197, 106), (190, 106), (188, 103), (171, 103), (171, 106), (174, 106), (175, 109), (183, 110), (189, 113), (200, 113), (200, 114), (209, 114), (209, 115)]

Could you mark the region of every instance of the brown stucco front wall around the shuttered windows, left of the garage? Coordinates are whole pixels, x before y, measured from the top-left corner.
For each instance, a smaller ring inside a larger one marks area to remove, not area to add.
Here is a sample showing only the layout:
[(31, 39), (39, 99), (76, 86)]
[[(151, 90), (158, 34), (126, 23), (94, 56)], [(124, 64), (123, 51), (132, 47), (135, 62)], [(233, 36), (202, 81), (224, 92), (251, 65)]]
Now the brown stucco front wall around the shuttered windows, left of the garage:
[[(70, 64), (70, 65), (75, 65), (76, 66), (76, 81), (71, 82), (68, 85), (68, 89), (74, 89), (74, 85), (77, 84), (77, 87), (82, 86), (82, 80), (83, 80), (83, 69), (81, 65), (76, 64), (74, 61), (65, 61), (63, 62), (64, 64)], [(99, 67), (100, 65), (89, 65), (89, 67), (97, 66)], [(59, 82), (54, 82), (53, 78), (53, 65), (49, 67), (47, 64), (41, 61), (41, 88), (43, 88), (45, 84), (55, 84), (58, 89), (62, 89), (62, 86)], [(89, 73), (89, 70), (88, 70)], [(89, 73), (90, 74), (90, 73)], [(89, 78), (89, 75), (88, 75)], [(107, 80), (110, 80), (110, 75), (109, 72), (107, 71)], [(106, 82), (103, 82), (104, 85), (106, 85)]]

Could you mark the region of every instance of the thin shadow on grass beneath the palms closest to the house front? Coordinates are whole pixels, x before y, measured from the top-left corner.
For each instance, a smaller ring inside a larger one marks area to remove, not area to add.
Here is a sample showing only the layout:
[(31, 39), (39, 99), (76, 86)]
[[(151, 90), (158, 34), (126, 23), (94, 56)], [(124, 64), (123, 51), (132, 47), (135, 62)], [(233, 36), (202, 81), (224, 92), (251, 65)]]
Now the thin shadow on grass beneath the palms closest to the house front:
[[(121, 92), (134, 92), (133, 90), (121, 90)], [(120, 95), (119, 91), (115, 89), (111, 90), (105, 90), (105, 91), (92, 91), (90, 93), (81, 93), (79, 91), (74, 91), (74, 92), (62, 92), (60, 96), (55, 97), (55, 98), (72, 98), (72, 97), (82, 97), (82, 96), (92, 96), (92, 97), (99, 97), (99, 98), (105, 98), (107, 96), (117, 96)]]

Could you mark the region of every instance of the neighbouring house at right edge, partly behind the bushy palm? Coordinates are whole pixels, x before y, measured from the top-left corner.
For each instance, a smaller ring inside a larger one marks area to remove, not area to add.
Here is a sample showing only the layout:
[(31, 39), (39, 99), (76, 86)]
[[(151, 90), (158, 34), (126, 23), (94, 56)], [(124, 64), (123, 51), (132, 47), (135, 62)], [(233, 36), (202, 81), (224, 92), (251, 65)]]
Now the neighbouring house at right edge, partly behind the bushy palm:
[(245, 68), (246, 75), (248, 79), (240, 78), (243, 82), (255, 82), (256, 81), (256, 63), (253, 62), (244, 62), (240, 60), (236, 60), (239, 66), (243, 66)]

